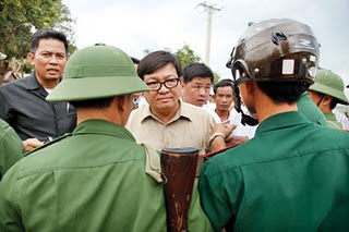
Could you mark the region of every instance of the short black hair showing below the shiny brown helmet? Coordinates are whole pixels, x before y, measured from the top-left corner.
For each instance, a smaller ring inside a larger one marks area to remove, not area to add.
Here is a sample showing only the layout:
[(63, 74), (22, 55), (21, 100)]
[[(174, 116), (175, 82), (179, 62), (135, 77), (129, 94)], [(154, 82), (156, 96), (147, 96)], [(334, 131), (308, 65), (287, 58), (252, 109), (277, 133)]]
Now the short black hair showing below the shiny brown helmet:
[(267, 95), (274, 103), (296, 103), (309, 88), (303, 82), (256, 82), (258, 88)]

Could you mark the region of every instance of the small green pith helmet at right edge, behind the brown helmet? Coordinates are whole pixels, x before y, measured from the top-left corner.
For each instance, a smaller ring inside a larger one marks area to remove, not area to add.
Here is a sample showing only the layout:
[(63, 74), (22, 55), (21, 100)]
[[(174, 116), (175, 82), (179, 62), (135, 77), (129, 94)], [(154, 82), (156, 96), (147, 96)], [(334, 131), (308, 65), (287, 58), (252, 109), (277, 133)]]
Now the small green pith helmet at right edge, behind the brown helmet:
[(338, 100), (338, 103), (349, 105), (345, 95), (345, 83), (339, 75), (330, 70), (318, 70), (315, 83), (309, 89), (332, 96)]

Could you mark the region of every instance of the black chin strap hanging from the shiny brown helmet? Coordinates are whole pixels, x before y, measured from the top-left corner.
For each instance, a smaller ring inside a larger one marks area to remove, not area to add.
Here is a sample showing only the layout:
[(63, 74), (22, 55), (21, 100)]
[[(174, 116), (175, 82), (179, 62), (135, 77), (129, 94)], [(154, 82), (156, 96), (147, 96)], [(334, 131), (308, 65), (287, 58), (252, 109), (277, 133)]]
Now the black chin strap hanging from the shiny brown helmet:
[(238, 111), (238, 113), (241, 113), (241, 123), (243, 125), (251, 125), (251, 126), (254, 126), (254, 125), (257, 125), (258, 124), (258, 120), (253, 118), (253, 117), (250, 117), (248, 114), (245, 114), (242, 109), (241, 109), (241, 97), (240, 97), (240, 90), (238, 88), (238, 86), (243, 83), (244, 81), (248, 81), (250, 80), (250, 77), (240, 77), (239, 80), (236, 80), (236, 76), (233, 74), (236, 70), (234, 69), (231, 69), (231, 73), (232, 73), (232, 77), (234, 80), (234, 85), (233, 85), (233, 95), (234, 95), (234, 108), (236, 110)]

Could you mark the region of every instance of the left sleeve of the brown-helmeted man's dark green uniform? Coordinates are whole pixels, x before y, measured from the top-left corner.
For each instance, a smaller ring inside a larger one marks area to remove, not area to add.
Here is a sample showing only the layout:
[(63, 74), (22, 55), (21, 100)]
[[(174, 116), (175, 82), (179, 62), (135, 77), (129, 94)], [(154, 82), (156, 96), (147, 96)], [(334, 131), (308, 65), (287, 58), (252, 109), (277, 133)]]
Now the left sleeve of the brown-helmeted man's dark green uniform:
[(240, 169), (217, 172), (214, 167), (216, 163), (207, 161), (204, 164), (198, 179), (198, 192), (202, 207), (212, 225), (215, 231), (220, 231), (237, 216), (243, 184)]

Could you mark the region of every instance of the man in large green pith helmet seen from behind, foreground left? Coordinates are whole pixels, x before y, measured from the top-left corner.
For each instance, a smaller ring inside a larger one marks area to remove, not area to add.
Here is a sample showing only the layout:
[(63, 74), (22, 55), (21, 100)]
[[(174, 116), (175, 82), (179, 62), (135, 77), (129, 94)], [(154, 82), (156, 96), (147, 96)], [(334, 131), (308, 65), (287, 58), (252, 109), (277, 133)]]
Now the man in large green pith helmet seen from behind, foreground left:
[[(75, 106), (77, 126), (3, 176), (0, 231), (167, 231), (164, 185), (146, 168), (154, 160), (123, 127), (132, 94), (146, 90), (122, 50), (98, 44), (73, 53), (47, 100)], [(189, 231), (212, 231), (196, 187), (191, 203)]]

